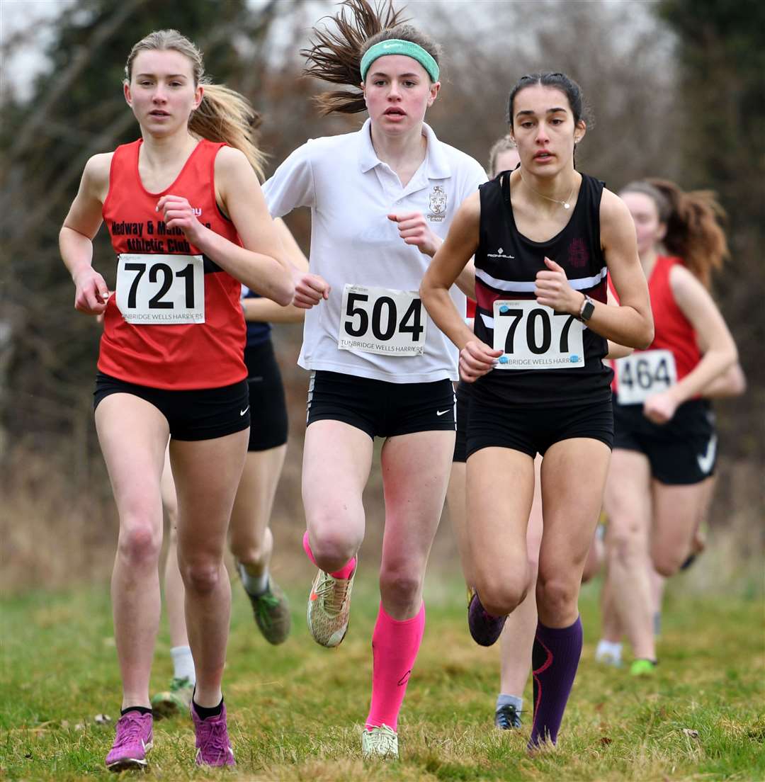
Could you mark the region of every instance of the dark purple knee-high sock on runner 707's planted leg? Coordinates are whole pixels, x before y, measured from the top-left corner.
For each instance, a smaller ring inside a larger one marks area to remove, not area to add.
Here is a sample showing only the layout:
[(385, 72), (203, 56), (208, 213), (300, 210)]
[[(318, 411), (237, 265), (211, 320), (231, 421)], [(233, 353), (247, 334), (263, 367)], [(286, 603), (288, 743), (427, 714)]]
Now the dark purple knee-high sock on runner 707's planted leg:
[(544, 741), (555, 744), (558, 728), (566, 710), (566, 701), (576, 676), (582, 653), (582, 621), (579, 616), (569, 627), (545, 627), (537, 624), (532, 669), (534, 684), (534, 720), (529, 748)]

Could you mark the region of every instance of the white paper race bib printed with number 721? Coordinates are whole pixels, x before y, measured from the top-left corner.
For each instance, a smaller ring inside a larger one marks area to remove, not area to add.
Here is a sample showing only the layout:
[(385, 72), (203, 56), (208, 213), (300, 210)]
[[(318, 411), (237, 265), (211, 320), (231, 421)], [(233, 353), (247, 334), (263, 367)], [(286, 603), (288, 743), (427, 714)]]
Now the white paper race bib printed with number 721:
[(132, 324), (204, 323), (202, 256), (120, 254), (117, 307)]

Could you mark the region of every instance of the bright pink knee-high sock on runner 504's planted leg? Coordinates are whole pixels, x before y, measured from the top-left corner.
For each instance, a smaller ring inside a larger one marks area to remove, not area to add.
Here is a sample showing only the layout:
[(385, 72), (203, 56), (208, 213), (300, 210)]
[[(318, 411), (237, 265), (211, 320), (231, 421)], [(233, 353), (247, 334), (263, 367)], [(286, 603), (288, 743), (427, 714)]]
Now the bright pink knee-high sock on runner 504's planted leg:
[(411, 669), (425, 632), (425, 603), (411, 619), (399, 621), (386, 614), (383, 604), (372, 633), (372, 704), (367, 728), (387, 725), (397, 730)]

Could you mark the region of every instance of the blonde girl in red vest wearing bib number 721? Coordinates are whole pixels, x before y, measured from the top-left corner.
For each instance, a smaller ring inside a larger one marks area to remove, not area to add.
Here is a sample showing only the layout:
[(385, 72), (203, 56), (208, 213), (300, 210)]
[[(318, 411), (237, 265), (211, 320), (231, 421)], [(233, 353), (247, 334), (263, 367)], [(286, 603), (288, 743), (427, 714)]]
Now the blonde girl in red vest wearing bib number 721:
[[(239, 293), (243, 282), (286, 305), (293, 283), (258, 184), (252, 109), (203, 73), (199, 50), (175, 30), (133, 47), (124, 96), (141, 138), (88, 160), (59, 239), (75, 309), (104, 315), (95, 425), (120, 517), (112, 599), (123, 696), (106, 757), (113, 770), (145, 766), (153, 741), (168, 439), (196, 669), (196, 760), (234, 762), (221, 676), (231, 601), (223, 552), (250, 429)], [(117, 254), (114, 292), (92, 266), (102, 221)]]

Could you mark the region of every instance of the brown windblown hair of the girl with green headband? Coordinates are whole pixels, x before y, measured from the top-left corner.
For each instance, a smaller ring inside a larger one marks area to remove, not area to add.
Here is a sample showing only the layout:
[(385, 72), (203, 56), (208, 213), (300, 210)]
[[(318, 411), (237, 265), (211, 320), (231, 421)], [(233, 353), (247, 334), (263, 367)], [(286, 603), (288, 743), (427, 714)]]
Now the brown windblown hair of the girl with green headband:
[(391, 38), (411, 41), (422, 46), (438, 62), (441, 48), (402, 16), (404, 9), (393, 8), (393, 0), (382, 0), (373, 6), (368, 0), (343, 0), (335, 16), (324, 19), (334, 23), (334, 30), (314, 27), (311, 46), (301, 50), (307, 60), (303, 74), (332, 84), (346, 84), (353, 89), (322, 92), (314, 98), (323, 116), (331, 113), (355, 114), (365, 111), (361, 84), (361, 58), (370, 46)]

